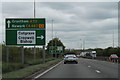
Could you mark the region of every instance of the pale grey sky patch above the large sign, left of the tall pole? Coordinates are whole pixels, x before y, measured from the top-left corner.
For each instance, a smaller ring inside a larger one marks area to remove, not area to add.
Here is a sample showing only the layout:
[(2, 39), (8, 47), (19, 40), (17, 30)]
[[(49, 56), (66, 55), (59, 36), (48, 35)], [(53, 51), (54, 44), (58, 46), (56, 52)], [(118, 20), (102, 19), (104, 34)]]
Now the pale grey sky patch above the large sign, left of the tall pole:
[(32, 17), (33, 3), (31, 2), (3, 2), (2, 3), (3, 17)]

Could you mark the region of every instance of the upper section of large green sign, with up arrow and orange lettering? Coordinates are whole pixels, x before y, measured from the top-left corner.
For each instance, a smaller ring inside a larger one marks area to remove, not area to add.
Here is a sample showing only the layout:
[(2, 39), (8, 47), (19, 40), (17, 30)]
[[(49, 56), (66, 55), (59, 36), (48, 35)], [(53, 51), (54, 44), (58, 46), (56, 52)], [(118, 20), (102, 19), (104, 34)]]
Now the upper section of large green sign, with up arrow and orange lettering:
[(45, 29), (45, 18), (7, 18), (6, 29)]

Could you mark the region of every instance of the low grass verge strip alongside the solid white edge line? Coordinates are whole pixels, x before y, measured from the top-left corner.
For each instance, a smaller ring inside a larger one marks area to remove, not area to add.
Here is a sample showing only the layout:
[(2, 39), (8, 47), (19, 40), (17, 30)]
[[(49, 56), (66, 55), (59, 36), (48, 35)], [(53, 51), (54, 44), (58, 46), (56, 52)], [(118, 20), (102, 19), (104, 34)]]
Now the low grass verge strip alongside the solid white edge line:
[(29, 66), (29, 67), (26, 67), (24, 69), (21, 69), (21, 70), (15, 71), (15, 72), (9, 72), (9, 73), (3, 74), (2, 76), (3, 76), (3, 78), (24, 78), (24, 77), (29, 76), (32, 73), (40, 70), (40, 69), (43, 69), (43, 68), (48, 67), (50, 65), (56, 64), (60, 60), (61, 59), (56, 59), (56, 60), (49, 61), (45, 64), (38, 64), (38, 65), (34, 65), (34, 66)]

